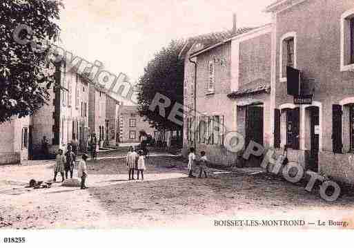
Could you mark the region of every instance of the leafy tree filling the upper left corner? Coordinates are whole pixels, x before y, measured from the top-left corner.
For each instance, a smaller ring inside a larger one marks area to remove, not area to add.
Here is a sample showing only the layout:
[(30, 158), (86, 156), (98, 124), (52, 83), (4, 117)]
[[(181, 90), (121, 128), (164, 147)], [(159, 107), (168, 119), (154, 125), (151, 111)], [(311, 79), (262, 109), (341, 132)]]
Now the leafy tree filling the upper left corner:
[[(54, 82), (54, 75), (49, 73), (53, 65), (46, 55), (48, 44), (59, 37), (56, 21), (61, 8), (61, 1), (1, 1), (0, 123), (13, 115), (32, 115), (48, 101), (48, 83)], [(19, 25), (28, 30), (17, 33)], [(27, 42), (20, 44), (19, 39)]]

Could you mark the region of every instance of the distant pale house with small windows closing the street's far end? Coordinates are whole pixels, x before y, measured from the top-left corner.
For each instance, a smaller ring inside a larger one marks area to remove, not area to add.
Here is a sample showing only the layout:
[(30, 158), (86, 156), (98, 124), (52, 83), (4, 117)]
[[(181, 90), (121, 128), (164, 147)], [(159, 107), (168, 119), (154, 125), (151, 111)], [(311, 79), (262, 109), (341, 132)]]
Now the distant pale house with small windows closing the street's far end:
[(155, 128), (141, 117), (137, 106), (119, 106), (119, 142), (139, 142), (139, 131), (154, 135)]

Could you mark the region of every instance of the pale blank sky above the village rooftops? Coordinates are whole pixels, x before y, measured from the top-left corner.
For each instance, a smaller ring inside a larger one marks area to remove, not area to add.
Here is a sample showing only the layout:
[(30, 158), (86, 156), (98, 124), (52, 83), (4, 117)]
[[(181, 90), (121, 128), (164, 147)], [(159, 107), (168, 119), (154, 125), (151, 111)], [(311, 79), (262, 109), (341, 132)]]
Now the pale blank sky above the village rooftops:
[(62, 46), (111, 73), (138, 79), (171, 39), (271, 21), (262, 10), (275, 0), (64, 0)]

